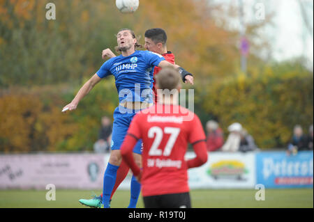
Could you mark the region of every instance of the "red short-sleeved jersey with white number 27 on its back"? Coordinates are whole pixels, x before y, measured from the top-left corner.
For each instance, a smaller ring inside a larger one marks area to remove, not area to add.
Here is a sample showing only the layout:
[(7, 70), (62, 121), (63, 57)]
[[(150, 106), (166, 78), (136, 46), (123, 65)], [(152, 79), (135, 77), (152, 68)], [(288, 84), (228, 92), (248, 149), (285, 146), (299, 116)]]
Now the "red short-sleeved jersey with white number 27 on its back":
[(182, 106), (156, 104), (135, 115), (128, 135), (143, 141), (142, 196), (189, 191), (184, 159), (188, 143), (206, 139), (195, 113)]

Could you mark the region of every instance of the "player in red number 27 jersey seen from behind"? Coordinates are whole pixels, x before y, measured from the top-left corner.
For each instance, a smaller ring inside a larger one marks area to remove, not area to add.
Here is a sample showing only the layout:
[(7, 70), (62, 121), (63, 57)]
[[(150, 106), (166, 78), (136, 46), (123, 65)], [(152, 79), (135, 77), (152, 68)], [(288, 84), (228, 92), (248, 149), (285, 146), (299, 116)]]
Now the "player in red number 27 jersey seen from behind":
[[(158, 104), (137, 113), (121, 145), (121, 155), (142, 184), (147, 208), (191, 207), (188, 168), (207, 161), (206, 136), (196, 114), (176, 104), (179, 72), (164, 68), (156, 76), (156, 86), (163, 90)], [(191, 116), (192, 118), (186, 118)], [(142, 170), (135, 164), (133, 147), (143, 141)], [(196, 157), (186, 161), (188, 143)]]

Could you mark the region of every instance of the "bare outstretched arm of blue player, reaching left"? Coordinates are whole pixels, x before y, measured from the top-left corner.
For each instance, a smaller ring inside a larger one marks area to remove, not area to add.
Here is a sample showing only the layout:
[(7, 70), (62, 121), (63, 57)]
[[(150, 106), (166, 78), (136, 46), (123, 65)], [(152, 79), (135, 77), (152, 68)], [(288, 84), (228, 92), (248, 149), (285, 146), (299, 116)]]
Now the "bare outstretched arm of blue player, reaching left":
[(80, 100), (82, 100), (82, 98), (84, 98), (87, 94), (89, 94), (89, 92), (91, 91), (92, 88), (94, 88), (94, 86), (96, 84), (98, 84), (98, 82), (101, 80), (100, 77), (98, 77), (98, 74), (94, 74), (93, 77), (91, 77), (91, 79), (89, 79), (81, 88), (80, 90), (77, 92), (77, 94), (75, 95), (74, 99), (72, 100), (72, 102), (70, 102), (69, 104), (67, 104), (66, 106), (63, 107), (64, 111), (71, 111), (76, 109), (77, 105), (79, 104)]

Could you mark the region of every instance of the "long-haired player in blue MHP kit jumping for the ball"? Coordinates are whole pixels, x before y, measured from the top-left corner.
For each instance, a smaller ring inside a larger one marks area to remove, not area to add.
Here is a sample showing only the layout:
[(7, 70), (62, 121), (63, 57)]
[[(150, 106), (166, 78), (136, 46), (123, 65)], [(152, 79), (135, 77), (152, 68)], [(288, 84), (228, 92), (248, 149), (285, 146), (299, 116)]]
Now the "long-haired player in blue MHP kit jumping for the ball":
[[(101, 68), (78, 91), (70, 104), (63, 107), (72, 111), (77, 108), (80, 100), (86, 96), (98, 82), (109, 75), (114, 75), (115, 84), (119, 94), (119, 106), (114, 110), (114, 122), (112, 129), (112, 152), (104, 175), (103, 183), (103, 207), (110, 207), (110, 195), (117, 177), (117, 171), (121, 164), (121, 144), (135, 113), (141, 109), (147, 109), (153, 104), (151, 90), (151, 77), (149, 70), (154, 66), (160, 68), (178, 68), (180, 72), (186, 72), (178, 65), (165, 61), (163, 56), (151, 51), (136, 51), (137, 39), (130, 29), (122, 29), (117, 34), (118, 49), (121, 55), (110, 58), (103, 63)], [(133, 150), (141, 154), (142, 141), (139, 141)], [(140, 164), (140, 163), (139, 163)], [(140, 194), (140, 184), (135, 177), (131, 180), (131, 198), (128, 207), (136, 207)]]

